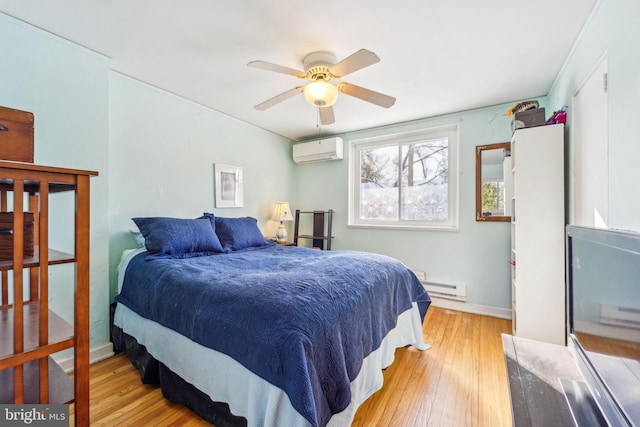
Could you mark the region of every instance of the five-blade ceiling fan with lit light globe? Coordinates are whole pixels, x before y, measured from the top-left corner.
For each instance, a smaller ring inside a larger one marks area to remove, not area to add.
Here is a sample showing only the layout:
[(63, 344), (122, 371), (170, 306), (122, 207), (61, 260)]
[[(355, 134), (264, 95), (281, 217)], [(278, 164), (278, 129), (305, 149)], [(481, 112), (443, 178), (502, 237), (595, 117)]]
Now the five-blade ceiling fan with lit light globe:
[(282, 65), (272, 64), (265, 61), (253, 61), (247, 65), (249, 67), (261, 68), (263, 70), (275, 71), (276, 73), (288, 74), (310, 81), (305, 86), (297, 86), (286, 92), (276, 95), (255, 106), (256, 110), (264, 111), (268, 108), (285, 101), (300, 92), (311, 105), (318, 107), (320, 123), (329, 125), (335, 122), (332, 105), (336, 102), (338, 93), (353, 96), (363, 101), (389, 108), (395, 104), (396, 99), (389, 95), (384, 95), (370, 89), (340, 82), (331, 83), (333, 79), (339, 79), (354, 71), (380, 62), (380, 58), (373, 52), (360, 49), (351, 56), (336, 63), (336, 57), (331, 52), (313, 52), (305, 56), (302, 65), (305, 71), (296, 70)]

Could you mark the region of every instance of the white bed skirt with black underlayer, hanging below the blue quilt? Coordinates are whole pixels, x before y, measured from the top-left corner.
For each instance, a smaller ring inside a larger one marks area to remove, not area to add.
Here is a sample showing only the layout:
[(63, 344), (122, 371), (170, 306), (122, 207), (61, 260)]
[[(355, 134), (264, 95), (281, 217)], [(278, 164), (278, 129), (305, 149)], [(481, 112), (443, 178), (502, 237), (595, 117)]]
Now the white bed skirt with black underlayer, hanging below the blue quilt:
[[(143, 382), (160, 384), (168, 399), (192, 409), (216, 426), (311, 427), (311, 423), (291, 406), (286, 393), (228, 356), (201, 348), (177, 332), (140, 317), (122, 304), (117, 304), (114, 310), (112, 325), (114, 347), (126, 349)], [(351, 383), (351, 404), (334, 414), (327, 427), (351, 425), (358, 407), (382, 388), (382, 369), (393, 363), (395, 350), (406, 345), (420, 350), (430, 348), (423, 341), (422, 319), (416, 303), (398, 317), (398, 324), (387, 334), (382, 345), (364, 359), (360, 373)], [(163, 380), (165, 371), (178, 377), (181, 385), (170, 385)], [(225, 384), (233, 384), (233, 387), (225, 387)], [(196, 396), (176, 392), (182, 390), (181, 387), (197, 391)], [(205, 399), (200, 399), (200, 394)], [(224, 405), (222, 409), (220, 405)]]

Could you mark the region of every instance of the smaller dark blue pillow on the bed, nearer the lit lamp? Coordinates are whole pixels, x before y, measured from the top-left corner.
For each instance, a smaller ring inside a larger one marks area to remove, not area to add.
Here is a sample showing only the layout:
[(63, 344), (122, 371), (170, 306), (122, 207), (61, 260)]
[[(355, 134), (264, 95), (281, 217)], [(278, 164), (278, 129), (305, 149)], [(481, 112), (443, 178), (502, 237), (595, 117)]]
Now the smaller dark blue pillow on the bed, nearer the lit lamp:
[(222, 218), (217, 216), (215, 217), (215, 232), (225, 250), (238, 251), (271, 244), (258, 228), (258, 221), (251, 217)]

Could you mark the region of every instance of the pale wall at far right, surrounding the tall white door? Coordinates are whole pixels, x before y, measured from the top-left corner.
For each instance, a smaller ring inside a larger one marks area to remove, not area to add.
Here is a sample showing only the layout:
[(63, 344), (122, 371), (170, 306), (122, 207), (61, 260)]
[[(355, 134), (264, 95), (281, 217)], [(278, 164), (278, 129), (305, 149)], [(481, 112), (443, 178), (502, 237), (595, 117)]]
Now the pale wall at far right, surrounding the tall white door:
[[(585, 25), (549, 93), (553, 105), (571, 105), (606, 52), (609, 63), (609, 227), (640, 231), (640, 2), (602, 0)], [(571, 111), (569, 111), (569, 117)], [(570, 125), (567, 135), (570, 137)], [(569, 144), (579, 144), (571, 141)]]

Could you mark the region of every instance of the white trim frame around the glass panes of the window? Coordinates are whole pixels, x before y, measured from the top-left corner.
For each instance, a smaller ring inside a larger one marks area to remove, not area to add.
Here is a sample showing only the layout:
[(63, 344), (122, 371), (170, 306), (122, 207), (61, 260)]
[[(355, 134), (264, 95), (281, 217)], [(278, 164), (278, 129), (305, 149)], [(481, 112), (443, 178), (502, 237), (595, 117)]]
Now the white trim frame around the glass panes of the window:
[[(448, 221), (408, 221), (408, 220), (361, 220), (359, 219), (360, 200), (360, 156), (359, 150), (363, 147), (384, 145), (397, 145), (425, 139), (433, 139), (442, 136), (449, 138), (449, 219)], [(349, 228), (377, 228), (400, 230), (431, 230), (431, 231), (457, 231), (458, 225), (458, 199), (460, 188), (458, 185), (458, 149), (460, 134), (458, 124), (432, 127), (418, 131), (399, 132), (389, 135), (381, 135), (354, 139), (349, 141), (349, 214), (347, 227)]]

